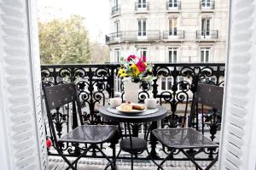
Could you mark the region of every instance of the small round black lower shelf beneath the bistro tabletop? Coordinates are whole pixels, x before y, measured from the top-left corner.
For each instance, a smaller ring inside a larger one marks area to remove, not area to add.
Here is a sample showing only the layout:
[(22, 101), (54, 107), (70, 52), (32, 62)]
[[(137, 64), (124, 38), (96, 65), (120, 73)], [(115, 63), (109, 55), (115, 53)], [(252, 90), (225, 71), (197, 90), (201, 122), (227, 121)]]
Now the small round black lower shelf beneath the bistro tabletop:
[[(132, 145), (131, 145), (131, 140), (132, 140)], [(131, 137), (131, 139), (130, 138), (123, 139), (120, 142), (120, 150), (124, 150), (131, 154), (137, 154), (138, 152), (142, 152), (146, 149), (147, 149), (147, 141), (145, 139)]]

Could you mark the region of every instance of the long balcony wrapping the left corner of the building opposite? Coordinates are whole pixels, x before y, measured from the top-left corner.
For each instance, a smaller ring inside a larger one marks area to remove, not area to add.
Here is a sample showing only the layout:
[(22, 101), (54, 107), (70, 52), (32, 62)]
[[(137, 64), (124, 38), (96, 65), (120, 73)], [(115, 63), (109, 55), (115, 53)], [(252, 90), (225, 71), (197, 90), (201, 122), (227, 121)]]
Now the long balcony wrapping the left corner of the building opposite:
[(160, 41), (160, 31), (119, 31), (106, 36), (106, 43)]

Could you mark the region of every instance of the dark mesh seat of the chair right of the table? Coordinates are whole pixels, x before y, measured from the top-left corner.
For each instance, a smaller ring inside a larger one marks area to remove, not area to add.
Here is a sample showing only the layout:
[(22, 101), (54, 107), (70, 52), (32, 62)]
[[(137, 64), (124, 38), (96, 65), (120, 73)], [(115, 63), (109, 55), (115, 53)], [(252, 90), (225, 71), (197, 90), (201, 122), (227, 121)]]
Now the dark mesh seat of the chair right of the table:
[(212, 142), (193, 128), (162, 128), (152, 131), (154, 136), (168, 148), (193, 149), (217, 148), (218, 144)]

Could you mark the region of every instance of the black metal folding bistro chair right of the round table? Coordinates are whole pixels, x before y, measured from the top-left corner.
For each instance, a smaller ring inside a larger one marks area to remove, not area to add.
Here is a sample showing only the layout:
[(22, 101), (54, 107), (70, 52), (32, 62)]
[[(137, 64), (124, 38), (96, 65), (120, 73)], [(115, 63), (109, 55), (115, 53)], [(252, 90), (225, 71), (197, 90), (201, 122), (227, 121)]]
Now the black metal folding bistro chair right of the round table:
[[(194, 101), (192, 102), (193, 107), (191, 108), (191, 113), (195, 111), (194, 106), (198, 103), (221, 111), (223, 94), (224, 89), (222, 87), (199, 83)], [(198, 168), (202, 170), (200, 165), (195, 161), (195, 154), (191, 155), (187, 150), (198, 149), (199, 152), (196, 152), (196, 154), (198, 154), (206, 148), (211, 148), (212, 150), (216, 150), (218, 148), (218, 144), (213, 143), (211, 139), (208, 139), (202, 133), (190, 127), (154, 129), (152, 133), (161, 144), (170, 150), (169, 155), (160, 162), (160, 167), (172, 157), (174, 151), (178, 150), (181, 151), (184, 156), (187, 156), (189, 161), (192, 161), (195, 164), (196, 169)], [(210, 169), (216, 161), (218, 161), (218, 154), (206, 169)], [(158, 169), (160, 169), (160, 167)]]

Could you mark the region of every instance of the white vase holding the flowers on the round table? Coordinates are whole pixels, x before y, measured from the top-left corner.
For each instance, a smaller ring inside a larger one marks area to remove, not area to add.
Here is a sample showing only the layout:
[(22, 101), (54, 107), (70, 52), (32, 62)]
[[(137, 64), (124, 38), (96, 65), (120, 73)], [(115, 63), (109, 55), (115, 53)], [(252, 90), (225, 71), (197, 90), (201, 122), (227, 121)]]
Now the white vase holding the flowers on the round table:
[(140, 84), (137, 82), (124, 82), (125, 102), (137, 103)]

